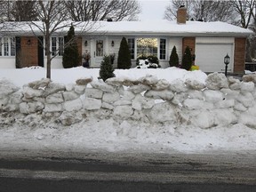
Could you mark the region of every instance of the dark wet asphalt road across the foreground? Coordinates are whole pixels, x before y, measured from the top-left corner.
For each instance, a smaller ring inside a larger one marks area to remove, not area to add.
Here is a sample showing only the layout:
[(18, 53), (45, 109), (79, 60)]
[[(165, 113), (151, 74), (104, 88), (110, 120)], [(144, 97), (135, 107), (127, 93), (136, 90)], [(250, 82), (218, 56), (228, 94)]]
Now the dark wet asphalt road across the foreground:
[(256, 191), (255, 153), (0, 154), (4, 191)]

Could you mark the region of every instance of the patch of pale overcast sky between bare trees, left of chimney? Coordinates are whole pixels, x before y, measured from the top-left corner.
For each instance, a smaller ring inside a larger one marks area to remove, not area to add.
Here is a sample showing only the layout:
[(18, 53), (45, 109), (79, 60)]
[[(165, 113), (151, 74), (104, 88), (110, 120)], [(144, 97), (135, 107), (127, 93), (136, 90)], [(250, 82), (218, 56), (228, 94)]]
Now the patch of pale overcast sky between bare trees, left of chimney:
[(139, 20), (163, 20), (165, 7), (170, 0), (138, 0), (141, 5)]

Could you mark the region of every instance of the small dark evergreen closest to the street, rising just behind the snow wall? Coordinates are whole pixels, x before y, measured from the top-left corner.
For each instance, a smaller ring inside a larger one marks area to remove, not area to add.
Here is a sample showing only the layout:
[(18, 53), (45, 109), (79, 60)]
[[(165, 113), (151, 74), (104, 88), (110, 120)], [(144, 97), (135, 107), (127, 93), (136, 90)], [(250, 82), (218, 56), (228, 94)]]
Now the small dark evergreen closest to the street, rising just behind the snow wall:
[(115, 77), (114, 68), (111, 64), (111, 58), (108, 55), (103, 57), (100, 63), (100, 79), (105, 82), (108, 78)]

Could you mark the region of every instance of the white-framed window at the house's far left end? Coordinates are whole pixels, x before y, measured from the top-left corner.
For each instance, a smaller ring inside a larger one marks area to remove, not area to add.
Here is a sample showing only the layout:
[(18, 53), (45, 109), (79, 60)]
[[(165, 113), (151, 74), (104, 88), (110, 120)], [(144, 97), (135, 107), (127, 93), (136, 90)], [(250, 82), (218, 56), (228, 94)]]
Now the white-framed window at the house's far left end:
[(15, 37), (0, 37), (0, 56), (15, 56)]

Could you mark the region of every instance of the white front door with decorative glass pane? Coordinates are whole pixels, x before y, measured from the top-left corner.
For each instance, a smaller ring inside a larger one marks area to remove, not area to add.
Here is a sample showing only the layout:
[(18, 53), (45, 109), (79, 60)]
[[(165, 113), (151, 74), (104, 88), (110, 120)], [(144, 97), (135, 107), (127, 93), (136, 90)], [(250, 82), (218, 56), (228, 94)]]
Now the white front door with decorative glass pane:
[(104, 40), (103, 39), (97, 39), (94, 42), (94, 52), (93, 52), (93, 61), (92, 61), (92, 67), (94, 68), (100, 68), (100, 63), (103, 60), (104, 56)]

